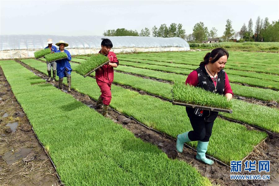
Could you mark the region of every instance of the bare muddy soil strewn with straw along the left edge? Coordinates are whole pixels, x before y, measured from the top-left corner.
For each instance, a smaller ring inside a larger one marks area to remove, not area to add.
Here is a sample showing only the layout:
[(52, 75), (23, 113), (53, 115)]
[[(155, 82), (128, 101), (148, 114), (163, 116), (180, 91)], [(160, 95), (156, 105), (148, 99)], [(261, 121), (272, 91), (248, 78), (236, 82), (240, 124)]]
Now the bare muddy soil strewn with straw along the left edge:
[(0, 68), (0, 185), (60, 185)]

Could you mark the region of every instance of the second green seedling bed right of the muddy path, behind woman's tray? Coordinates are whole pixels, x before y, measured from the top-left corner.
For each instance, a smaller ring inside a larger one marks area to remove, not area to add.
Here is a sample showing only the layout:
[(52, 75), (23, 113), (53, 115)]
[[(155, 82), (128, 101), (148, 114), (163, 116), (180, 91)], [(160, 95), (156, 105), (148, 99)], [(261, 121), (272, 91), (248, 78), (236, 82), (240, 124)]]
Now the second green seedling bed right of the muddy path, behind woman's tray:
[[(78, 64), (72, 63), (73, 70), (75, 70), (77, 66)], [(92, 74), (92, 76), (94, 76), (94, 73)], [(135, 77), (133, 75), (123, 74), (118, 72), (114, 73), (114, 82), (121, 85), (128, 85), (131, 88), (140, 89), (147, 93), (158, 95), (160, 97), (169, 100), (172, 99), (171, 89), (173, 88), (173, 85), (168, 83), (162, 83), (150, 79), (143, 79), (140, 77)], [(184, 80), (182, 82), (184, 84)], [(236, 112), (230, 114), (229, 118), (245, 122), (248, 125), (260, 126), (272, 132), (278, 132), (277, 123), (279, 123), (278, 121), (279, 113), (277, 109), (261, 106), (257, 104), (252, 104), (252, 103), (246, 103), (246, 102), (242, 104), (242, 102), (243, 101), (241, 100), (236, 100), (236, 99), (232, 100), (233, 103), (232, 105), (234, 108), (233, 110), (235, 110)], [(185, 104), (183, 104), (183, 106), (185, 106)], [(255, 108), (257, 108), (258, 110), (254, 111)], [(231, 111), (227, 109), (225, 112), (230, 113)], [(265, 114), (263, 115), (262, 113)], [(252, 117), (254, 118), (254, 120), (248, 119)], [(243, 118), (246, 119), (244, 120)], [(263, 122), (264, 120), (270, 120), (270, 122), (269, 123)]]

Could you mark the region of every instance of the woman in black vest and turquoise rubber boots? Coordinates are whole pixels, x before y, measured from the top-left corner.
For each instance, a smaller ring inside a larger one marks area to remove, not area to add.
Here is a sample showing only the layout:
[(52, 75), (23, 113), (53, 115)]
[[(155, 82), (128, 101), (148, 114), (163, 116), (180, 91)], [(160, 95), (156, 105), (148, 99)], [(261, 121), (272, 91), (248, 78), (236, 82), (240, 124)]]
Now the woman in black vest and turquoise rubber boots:
[[(185, 84), (200, 87), (213, 93), (224, 95), (227, 100), (232, 99), (233, 93), (226, 72), (223, 70), (229, 57), (223, 48), (215, 48), (208, 52), (200, 67), (192, 71)], [(179, 134), (176, 141), (176, 149), (182, 152), (183, 143), (198, 141), (196, 159), (212, 165), (214, 161), (205, 157), (209, 138), (211, 136), (214, 120), (218, 112), (186, 107), (193, 130)]]

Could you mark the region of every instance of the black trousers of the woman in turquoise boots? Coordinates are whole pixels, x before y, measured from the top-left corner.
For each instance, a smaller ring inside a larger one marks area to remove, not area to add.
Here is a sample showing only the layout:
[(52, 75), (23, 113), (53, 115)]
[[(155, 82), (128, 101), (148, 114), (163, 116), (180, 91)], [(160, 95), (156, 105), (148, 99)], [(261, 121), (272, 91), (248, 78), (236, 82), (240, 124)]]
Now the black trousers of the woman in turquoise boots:
[[(191, 141), (208, 142), (212, 133), (213, 121), (207, 121), (209, 111), (201, 111), (192, 108), (187, 108), (187, 115), (190, 119), (193, 130), (189, 131), (188, 138)], [(202, 113), (200, 113), (202, 112)]]

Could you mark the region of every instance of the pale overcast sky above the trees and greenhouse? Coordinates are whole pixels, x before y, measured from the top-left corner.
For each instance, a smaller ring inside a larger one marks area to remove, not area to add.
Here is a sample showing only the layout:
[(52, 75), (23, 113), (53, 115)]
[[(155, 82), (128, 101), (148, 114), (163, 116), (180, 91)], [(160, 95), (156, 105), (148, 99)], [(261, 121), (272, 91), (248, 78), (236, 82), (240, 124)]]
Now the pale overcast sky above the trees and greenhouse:
[[(1, 1), (0, 34), (102, 35), (104, 30), (141, 31), (181, 23), (186, 34), (197, 22), (222, 36), (226, 20), (239, 31), (252, 18), (279, 19), (279, 1)], [(253, 29), (254, 29), (253, 25)], [(152, 33), (151, 33), (152, 34)]]

